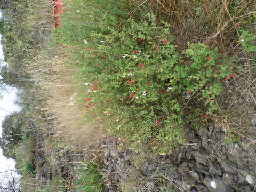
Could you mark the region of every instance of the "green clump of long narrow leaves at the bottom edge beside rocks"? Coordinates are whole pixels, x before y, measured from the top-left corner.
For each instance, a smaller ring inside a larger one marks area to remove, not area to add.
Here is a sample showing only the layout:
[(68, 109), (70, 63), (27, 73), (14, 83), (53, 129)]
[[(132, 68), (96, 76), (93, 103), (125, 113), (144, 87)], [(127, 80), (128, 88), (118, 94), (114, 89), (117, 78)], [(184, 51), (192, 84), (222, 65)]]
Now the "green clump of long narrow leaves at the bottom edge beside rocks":
[(99, 174), (99, 165), (97, 163), (84, 163), (81, 169), (77, 172), (79, 177), (76, 185), (77, 192), (103, 192), (105, 187), (101, 182)]

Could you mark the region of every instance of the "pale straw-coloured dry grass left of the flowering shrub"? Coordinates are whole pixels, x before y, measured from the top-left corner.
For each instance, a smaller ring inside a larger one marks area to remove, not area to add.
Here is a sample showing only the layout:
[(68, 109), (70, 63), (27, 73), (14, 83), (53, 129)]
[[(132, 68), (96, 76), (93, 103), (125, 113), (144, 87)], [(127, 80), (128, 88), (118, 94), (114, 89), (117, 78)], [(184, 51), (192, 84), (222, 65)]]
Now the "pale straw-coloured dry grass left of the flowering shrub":
[(45, 98), (38, 118), (50, 122), (48, 131), (54, 132), (54, 137), (68, 142), (84, 144), (99, 139), (102, 137), (100, 123), (90, 122), (84, 116), (78, 92), (83, 84), (75, 81), (74, 70), (64, 64), (71, 62), (66, 50), (58, 48), (54, 52), (56, 54), (37, 55), (26, 69), (38, 87), (35, 92)]

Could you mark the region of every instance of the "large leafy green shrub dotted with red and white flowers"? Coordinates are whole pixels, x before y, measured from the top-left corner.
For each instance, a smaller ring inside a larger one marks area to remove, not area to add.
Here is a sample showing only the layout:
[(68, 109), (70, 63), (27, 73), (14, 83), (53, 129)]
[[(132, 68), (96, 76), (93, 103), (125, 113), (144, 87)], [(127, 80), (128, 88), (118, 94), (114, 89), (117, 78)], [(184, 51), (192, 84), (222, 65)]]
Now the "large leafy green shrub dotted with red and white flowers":
[(185, 114), (204, 119), (217, 109), (223, 80), (234, 76), (227, 70), (231, 60), (202, 43), (180, 50), (170, 25), (152, 14), (119, 22), (102, 6), (83, 5), (70, 7), (58, 42), (77, 46), (70, 52), (86, 85), (86, 117), (99, 116), (133, 149), (170, 154), (185, 143)]

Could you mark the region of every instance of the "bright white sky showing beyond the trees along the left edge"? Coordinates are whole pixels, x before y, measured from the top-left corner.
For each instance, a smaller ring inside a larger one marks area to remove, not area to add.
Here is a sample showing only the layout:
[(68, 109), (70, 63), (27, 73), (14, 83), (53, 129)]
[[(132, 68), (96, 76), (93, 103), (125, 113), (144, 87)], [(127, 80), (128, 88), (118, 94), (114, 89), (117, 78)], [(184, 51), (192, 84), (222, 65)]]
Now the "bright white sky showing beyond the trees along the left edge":
[[(0, 10), (0, 19), (2, 18), (2, 12)], [(2, 35), (0, 34), (0, 66), (5, 65), (3, 45), (1, 44)], [(19, 107), (14, 104), (16, 99), (17, 89), (6, 86), (6, 91), (2, 93), (3, 98), (0, 98), (0, 134), (2, 134), (2, 121), (6, 115), (9, 115), (13, 111), (19, 110)], [(0, 149), (0, 172), (15, 169), (15, 162), (12, 159), (7, 159), (2, 155)], [(1, 173), (0, 173), (1, 177)]]

